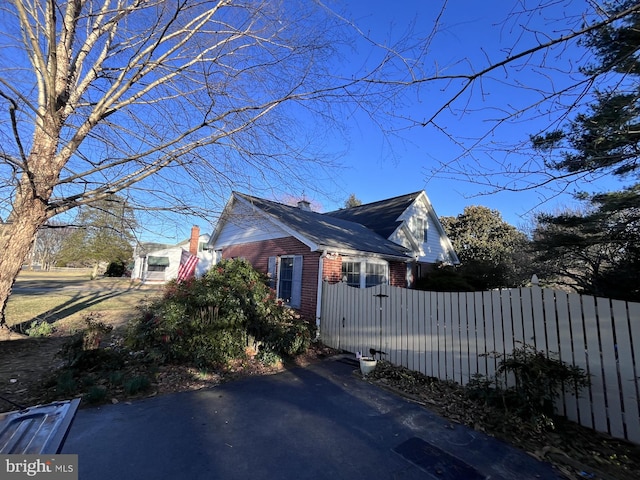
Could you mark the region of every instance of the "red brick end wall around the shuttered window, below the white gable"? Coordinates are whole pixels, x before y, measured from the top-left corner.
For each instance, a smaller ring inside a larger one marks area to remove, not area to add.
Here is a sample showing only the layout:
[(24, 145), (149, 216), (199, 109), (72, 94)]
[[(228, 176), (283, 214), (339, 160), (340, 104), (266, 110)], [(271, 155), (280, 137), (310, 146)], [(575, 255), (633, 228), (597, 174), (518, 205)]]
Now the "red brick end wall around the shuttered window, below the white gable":
[(222, 258), (245, 258), (260, 272), (268, 273), (269, 257), (302, 255), (302, 292), (300, 314), (315, 324), (318, 296), (318, 261), (320, 253), (294, 237), (244, 243), (222, 249)]

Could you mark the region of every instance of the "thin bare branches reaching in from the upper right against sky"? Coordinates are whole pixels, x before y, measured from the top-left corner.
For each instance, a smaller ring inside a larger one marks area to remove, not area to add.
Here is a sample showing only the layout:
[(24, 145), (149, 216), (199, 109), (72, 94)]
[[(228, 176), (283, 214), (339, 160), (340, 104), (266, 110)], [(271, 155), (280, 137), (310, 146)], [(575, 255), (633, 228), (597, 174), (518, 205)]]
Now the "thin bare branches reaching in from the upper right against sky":
[[(461, 59), (456, 72), (421, 79), (448, 81), (442, 84), (446, 95), (424, 118), (406, 119), (408, 127), (433, 127), (456, 150), (428, 175), (472, 183), (484, 193), (535, 190), (541, 199), (610, 176), (613, 168), (593, 168), (594, 162), (561, 168), (562, 154), (544, 155), (532, 142), (567, 129), (603, 92), (632, 93), (637, 102), (633, 59), (640, 51), (640, 3), (585, 0), (581, 10), (578, 5), (517, 2), (506, 19), (496, 19), (504, 34), (501, 52), (471, 45), (469, 51), (481, 54)], [(594, 51), (598, 38), (602, 44)], [(610, 53), (613, 44), (617, 56)], [(474, 133), (465, 131), (470, 125)]]

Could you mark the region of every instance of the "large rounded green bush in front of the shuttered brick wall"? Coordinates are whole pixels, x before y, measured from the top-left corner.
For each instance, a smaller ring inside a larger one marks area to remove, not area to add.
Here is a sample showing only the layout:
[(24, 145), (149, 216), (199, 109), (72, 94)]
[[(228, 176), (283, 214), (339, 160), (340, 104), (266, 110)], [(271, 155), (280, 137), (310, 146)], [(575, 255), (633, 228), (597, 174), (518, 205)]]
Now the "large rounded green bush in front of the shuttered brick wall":
[(202, 278), (171, 282), (141, 306), (127, 343), (149, 357), (209, 367), (241, 358), (250, 342), (277, 355), (309, 346), (309, 328), (282, 305), (265, 275), (242, 259), (222, 260)]

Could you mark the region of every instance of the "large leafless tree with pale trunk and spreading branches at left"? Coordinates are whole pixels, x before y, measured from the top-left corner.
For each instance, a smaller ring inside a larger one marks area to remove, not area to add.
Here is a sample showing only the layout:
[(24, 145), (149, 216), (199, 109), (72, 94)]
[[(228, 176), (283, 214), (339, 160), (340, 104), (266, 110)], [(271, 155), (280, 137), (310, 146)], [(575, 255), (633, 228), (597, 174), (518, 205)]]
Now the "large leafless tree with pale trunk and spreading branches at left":
[(193, 212), (230, 185), (313, 188), (326, 159), (306, 127), (401, 88), (372, 82), (400, 58), (388, 46), (371, 68), (331, 70), (357, 31), (321, 2), (12, 0), (0, 21), (0, 325), (55, 215), (116, 192)]

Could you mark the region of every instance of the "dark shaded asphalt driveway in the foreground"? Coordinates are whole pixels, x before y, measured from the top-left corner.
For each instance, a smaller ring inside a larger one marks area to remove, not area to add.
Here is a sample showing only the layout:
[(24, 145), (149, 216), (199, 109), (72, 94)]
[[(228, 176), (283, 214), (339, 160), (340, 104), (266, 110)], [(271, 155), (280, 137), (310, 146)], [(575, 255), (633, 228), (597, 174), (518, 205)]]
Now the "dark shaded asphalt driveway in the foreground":
[(363, 382), (332, 358), (78, 412), (79, 478), (555, 479), (548, 464)]

